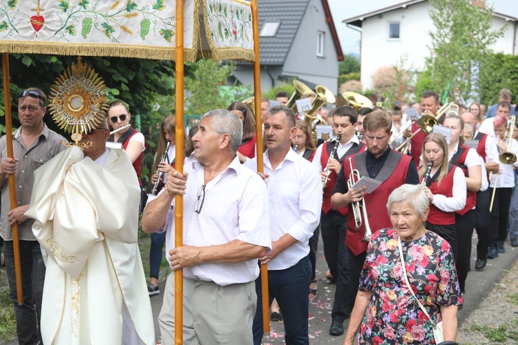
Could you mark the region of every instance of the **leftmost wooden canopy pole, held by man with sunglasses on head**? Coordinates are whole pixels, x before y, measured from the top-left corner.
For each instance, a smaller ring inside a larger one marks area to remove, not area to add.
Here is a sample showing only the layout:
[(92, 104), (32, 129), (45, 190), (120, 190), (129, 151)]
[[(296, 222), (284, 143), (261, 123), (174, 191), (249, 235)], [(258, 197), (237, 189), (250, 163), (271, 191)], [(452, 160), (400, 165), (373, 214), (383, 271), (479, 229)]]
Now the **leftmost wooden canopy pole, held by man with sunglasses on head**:
[[(6, 146), (7, 157), (14, 158), (12, 151), (12, 118), (11, 118), (11, 88), (9, 77), (9, 55), (2, 54), (2, 72), (3, 72), (3, 104), (6, 107)], [(9, 195), (11, 201), (11, 210), (17, 207), (16, 204), (16, 181), (15, 175), (9, 175)], [(12, 230), (12, 251), (15, 255), (15, 277), (16, 277), (16, 295), (18, 304), (23, 304), (23, 287), (21, 285), (21, 262), (20, 262), (20, 239), (18, 236), (18, 223), (11, 226)]]

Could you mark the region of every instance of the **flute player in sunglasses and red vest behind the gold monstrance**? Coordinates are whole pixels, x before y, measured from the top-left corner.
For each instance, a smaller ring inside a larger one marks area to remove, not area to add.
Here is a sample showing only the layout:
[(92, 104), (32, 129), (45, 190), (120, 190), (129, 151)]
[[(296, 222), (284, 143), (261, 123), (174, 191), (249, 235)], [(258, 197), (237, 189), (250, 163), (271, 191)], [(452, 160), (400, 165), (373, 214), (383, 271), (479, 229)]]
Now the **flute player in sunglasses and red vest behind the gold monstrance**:
[(135, 168), (135, 172), (137, 172), (142, 196), (140, 204), (140, 211), (142, 212), (144, 206), (146, 205), (144, 199), (147, 199), (145, 197), (146, 193), (144, 193), (142, 180), (140, 178), (142, 158), (144, 158), (144, 148), (146, 146), (144, 135), (142, 135), (141, 132), (135, 130), (135, 128), (129, 126), (131, 114), (123, 101), (113, 101), (110, 103), (108, 106), (108, 119), (110, 119), (109, 123), (111, 128), (113, 128), (114, 131), (118, 130), (114, 134), (110, 135), (108, 141), (122, 144), (122, 148), (124, 148), (124, 151), (126, 151), (126, 154), (131, 160), (133, 168)]

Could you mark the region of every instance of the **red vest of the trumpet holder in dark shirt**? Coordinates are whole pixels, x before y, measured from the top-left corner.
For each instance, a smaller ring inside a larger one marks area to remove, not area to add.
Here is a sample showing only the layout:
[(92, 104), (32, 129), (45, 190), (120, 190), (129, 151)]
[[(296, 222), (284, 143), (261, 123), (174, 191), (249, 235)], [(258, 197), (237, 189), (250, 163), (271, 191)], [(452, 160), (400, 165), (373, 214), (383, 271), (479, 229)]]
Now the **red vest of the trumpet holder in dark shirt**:
[[(345, 157), (345, 180), (347, 181), (347, 179), (349, 179), (350, 174), (349, 157), (352, 157), (352, 166), (360, 172), (360, 176), (367, 175), (367, 152), (363, 151), (356, 155)], [(358, 164), (356, 164), (356, 160), (358, 160)], [(390, 221), (390, 216), (387, 211), (387, 200), (394, 189), (406, 183), (411, 160), (412, 157), (391, 150), (383, 168), (381, 168), (381, 171), (376, 176), (376, 179), (383, 181), (383, 184), (378, 186), (372, 194), (365, 194), (364, 199), (365, 206), (367, 206), (367, 217), (373, 234), (383, 228), (392, 228), (392, 222)], [(394, 165), (395, 168), (392, 168)], [(361, 204), (363, 204), (363, 202)], [(362, 225), (359, 229), (356, 229), (354, 217), (352, 216), (352, 204), (349, 204), (348, 207), (350, 217), (347, 217), (348, 233), (345, 237), (345, 245), (357, 256), (367, 250), (368, 242), (361, 240), (365, 235), (365, 219), (363, 219), (362, 216)]]

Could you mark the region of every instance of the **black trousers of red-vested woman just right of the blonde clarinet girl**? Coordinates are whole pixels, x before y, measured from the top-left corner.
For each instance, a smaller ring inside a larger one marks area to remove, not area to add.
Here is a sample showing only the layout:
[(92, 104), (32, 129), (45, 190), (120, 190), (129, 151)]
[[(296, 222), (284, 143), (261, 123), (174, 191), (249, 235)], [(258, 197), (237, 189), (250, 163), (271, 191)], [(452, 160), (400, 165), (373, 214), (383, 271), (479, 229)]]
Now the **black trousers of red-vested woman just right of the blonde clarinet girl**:
[(461, 292), (464, 292), (466, 277), (468, 277), (468, 271), (470, 270), (473, 228), (474, 210), (469, 210), (464, 215), (455, 213), (455, 229), (457, 230), (457, 257), (455, 257), (455, 265), (457, 266), (457, 277), (459, 278)]

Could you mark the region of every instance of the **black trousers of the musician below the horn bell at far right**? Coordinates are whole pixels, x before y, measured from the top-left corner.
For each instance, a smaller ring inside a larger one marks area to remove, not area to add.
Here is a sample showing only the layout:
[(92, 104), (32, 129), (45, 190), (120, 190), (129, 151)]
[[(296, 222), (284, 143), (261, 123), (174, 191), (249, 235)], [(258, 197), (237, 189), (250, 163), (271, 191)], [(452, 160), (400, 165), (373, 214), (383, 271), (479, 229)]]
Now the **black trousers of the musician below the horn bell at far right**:
[(497, 188), (495, 193), (490, 225), (490, 244), (492, 246), (496, 246), (497, 242), (505, 241), (507, 238), (511, 194), (512, 188)]

